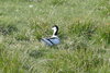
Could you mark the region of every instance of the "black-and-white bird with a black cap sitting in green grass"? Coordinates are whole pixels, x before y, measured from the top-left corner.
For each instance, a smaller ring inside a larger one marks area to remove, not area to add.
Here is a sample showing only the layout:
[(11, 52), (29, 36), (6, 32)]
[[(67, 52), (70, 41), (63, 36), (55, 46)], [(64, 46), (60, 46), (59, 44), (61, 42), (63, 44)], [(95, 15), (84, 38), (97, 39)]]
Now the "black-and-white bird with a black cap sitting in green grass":
[(47, 46), (55, 46), (55, 45), (58, 45), (61, 42), (61, 40), (57, 36), (58, 35), (58, 26), (54, 25), (52, 27), (52, 29), (54, 31), (52, 37), (48, 37), (48, 38), (46, 37), (46, 38), (41, 39), (41, 41)]

